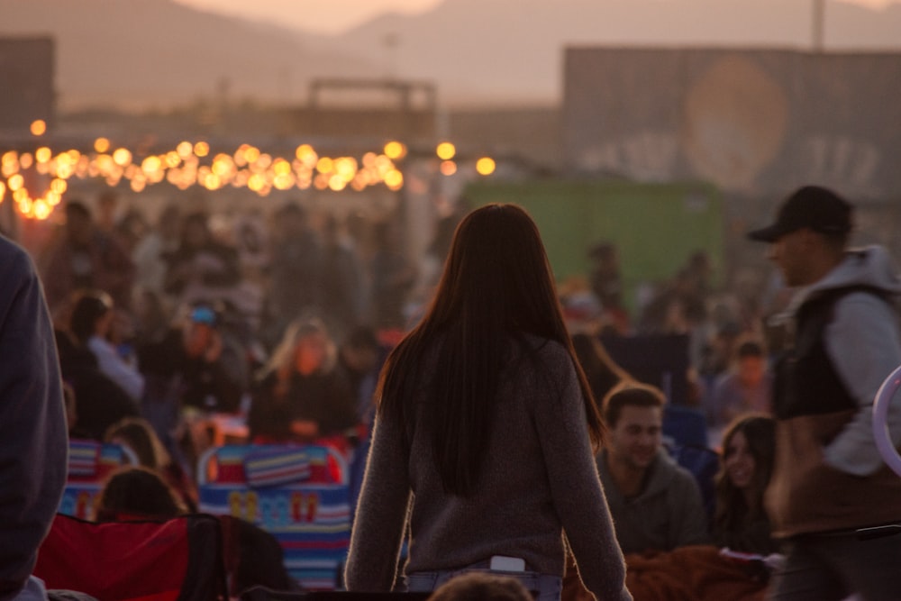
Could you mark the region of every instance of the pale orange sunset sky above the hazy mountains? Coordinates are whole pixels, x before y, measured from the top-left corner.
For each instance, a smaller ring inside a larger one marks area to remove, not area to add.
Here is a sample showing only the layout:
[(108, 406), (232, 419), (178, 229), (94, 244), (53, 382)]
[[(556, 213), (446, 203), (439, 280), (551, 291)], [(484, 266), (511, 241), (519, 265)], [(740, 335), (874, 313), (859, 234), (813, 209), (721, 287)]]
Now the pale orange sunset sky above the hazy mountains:
[[(674, 2), (676, 0), (661, 0)], [(387, 11), (418, 13), (441, 0), (176, 0), (203, 10), (232, 14), (311, 32), (342, 32)], [(901, 0), (844, 0), (851, 4), (882, 7)]]

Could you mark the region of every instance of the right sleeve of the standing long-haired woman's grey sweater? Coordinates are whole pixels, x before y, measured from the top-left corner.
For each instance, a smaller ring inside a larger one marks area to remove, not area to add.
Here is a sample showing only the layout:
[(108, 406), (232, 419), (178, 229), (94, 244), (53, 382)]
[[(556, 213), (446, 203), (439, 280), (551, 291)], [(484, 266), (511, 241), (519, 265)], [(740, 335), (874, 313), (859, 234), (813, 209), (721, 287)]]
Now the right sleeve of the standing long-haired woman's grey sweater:
[(569, 355), (555, 355), (549, 368), (558, 384), (534, 403), (553, 503), (585, 587), (599, 599), (631, 599), (623, 554), (597, 476), (576, 370)]

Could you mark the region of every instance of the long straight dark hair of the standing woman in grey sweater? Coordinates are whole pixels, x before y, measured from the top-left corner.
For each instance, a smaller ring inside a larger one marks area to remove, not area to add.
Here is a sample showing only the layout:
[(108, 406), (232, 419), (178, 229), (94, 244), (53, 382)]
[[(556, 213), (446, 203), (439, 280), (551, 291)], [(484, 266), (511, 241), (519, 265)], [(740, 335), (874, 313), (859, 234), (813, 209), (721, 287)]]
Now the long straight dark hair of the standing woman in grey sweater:
[[(414, 391), (424, 390), (428, 417), (440, 424), (431, 428), (432, 451), (451, 494), (469, 496), (478, 484), (510, 343), (527, 349), (526, 334), (569, 351), (588, 432), (599, 446), (604, 426), (569, 340), (538, 228), (519, 206), (483, 206), (458, 225), (432, 304), (388, 357), (376, 393), (379, 416), (407, 432)], [(437, 360), (423, 369), (430, 351)]]

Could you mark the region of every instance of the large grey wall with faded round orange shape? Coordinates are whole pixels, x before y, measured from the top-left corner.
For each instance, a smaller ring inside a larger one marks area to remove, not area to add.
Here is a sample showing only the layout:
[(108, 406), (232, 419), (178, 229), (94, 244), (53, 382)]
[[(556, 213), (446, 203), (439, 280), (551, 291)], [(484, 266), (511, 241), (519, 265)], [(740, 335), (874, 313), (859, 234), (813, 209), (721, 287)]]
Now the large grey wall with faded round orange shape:
[(570, 48), (563, 98), (574, 172), (748, 198), (901, 190), (901, 53)]

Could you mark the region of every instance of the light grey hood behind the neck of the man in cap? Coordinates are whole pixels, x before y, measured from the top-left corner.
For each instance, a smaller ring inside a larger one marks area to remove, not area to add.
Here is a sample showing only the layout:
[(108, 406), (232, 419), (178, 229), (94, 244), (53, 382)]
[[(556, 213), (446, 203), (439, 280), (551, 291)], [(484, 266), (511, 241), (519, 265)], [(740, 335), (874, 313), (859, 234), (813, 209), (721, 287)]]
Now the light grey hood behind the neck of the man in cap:
[(851, 286), (869, 286), (892, 296), (901, 296), (901, 278), (887, 250), (881, 246), (867, 246), (848, 250), (844, 260), (825, 278), (801, 289), (792, 299), (787, 313), (794, 314), (808, 298), (822, 292)]

